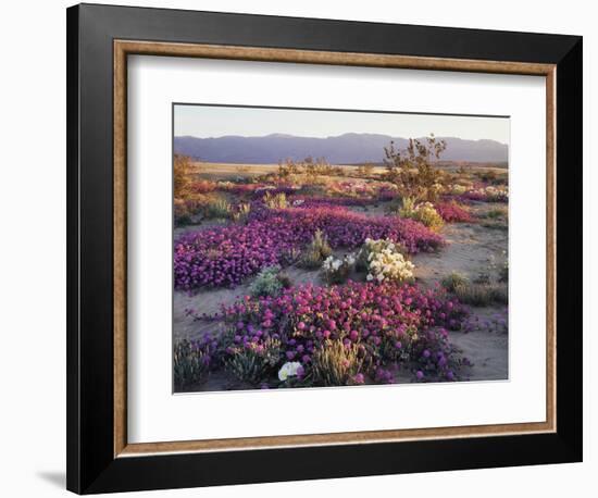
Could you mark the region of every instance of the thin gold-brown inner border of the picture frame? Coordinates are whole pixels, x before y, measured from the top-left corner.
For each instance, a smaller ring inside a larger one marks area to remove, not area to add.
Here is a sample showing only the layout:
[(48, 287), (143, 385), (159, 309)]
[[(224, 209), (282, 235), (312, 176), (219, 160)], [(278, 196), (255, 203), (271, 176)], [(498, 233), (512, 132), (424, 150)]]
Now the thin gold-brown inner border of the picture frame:
[[(129, 444), (127, 440), (127, 55), (536, 75), (546, 78), (546, 421)], [(556, 398), (556, 65), (195, 43), (114, 40), (114, 457), (553, 433)]]

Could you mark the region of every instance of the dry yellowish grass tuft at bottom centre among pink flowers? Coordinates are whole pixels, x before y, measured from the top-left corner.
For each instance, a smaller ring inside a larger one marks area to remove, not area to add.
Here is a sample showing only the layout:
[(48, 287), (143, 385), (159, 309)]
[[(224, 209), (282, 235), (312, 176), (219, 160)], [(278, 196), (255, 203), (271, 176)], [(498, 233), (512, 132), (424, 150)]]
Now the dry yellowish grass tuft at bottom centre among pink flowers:
[(357, 345), (327, 339), (312, 356), (312, 382), (321, 386), (349, 385), (354, 383), (362, 362)]

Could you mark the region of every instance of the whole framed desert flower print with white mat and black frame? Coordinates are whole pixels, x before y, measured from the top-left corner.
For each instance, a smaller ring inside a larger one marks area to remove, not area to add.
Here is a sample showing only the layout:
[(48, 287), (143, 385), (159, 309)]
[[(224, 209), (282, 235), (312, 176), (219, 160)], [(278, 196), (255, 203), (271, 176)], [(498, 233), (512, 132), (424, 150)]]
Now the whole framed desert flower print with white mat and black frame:
[(68, 489), (581, 461), (581, 37), (82, 4), (67, 86)]

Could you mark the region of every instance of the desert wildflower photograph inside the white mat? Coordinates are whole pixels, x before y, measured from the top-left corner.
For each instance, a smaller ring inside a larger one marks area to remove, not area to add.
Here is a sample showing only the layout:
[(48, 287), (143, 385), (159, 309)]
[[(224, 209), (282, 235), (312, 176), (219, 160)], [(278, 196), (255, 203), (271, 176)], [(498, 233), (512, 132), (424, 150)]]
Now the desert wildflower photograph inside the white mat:
[(174, 103), (174, 393), (507, 381), (509, 134)]

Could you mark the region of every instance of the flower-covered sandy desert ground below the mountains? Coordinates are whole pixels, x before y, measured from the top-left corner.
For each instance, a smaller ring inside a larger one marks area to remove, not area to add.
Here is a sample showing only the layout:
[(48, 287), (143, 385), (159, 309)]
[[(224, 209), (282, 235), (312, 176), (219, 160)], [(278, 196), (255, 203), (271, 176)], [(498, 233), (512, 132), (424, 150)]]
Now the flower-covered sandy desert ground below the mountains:
[(177, 155), (175, 390), (507, 378), (508, 172), (432, 167)]

